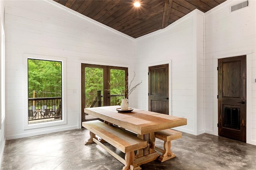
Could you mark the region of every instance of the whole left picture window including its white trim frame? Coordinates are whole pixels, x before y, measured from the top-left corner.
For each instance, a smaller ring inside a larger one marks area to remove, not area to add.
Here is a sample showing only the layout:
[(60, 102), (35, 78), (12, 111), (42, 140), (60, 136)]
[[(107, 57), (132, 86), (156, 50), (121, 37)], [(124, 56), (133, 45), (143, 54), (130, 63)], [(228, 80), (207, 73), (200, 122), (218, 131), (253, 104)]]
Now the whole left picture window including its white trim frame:
[(23, 59), (24, 129), (66, 124), (66, 58), (25, 53)]

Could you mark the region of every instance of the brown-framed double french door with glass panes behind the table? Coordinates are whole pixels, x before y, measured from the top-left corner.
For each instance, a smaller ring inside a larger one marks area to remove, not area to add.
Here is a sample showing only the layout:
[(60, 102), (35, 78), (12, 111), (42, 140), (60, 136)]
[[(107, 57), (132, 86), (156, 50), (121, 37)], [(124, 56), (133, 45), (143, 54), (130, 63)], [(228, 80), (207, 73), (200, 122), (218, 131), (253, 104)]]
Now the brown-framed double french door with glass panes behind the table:
[(84, 108), (121, 105), (127, 94), (128, 68), (81, 64), (82, 122), (96, 119)]

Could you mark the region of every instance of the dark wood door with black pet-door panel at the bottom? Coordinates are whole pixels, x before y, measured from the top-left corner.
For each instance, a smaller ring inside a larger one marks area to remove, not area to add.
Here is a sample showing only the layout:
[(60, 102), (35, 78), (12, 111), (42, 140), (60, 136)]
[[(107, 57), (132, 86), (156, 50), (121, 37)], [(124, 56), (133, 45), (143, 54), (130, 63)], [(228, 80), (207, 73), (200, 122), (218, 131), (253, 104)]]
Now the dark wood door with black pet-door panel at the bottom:
[(246, 142), (246, 56), (218, 60), (218, 134)]

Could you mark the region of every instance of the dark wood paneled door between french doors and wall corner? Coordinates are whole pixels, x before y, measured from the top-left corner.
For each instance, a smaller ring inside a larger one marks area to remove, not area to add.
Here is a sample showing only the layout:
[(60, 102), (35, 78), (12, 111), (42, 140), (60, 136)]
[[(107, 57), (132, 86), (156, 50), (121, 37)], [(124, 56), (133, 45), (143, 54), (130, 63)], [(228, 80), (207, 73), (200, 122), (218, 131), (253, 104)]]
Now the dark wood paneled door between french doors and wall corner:
[(169, 114), (169, 64), (149, 67), (149, 111)]

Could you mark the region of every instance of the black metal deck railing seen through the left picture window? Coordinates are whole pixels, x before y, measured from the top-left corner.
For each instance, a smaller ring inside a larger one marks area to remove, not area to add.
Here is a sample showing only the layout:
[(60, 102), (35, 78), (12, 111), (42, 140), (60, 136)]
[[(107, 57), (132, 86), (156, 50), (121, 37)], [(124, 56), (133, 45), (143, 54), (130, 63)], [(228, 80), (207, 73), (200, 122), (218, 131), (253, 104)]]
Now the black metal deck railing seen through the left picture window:
[(61, 97), (28, 98), (28, 121), (51, 118), (62, 119)]

